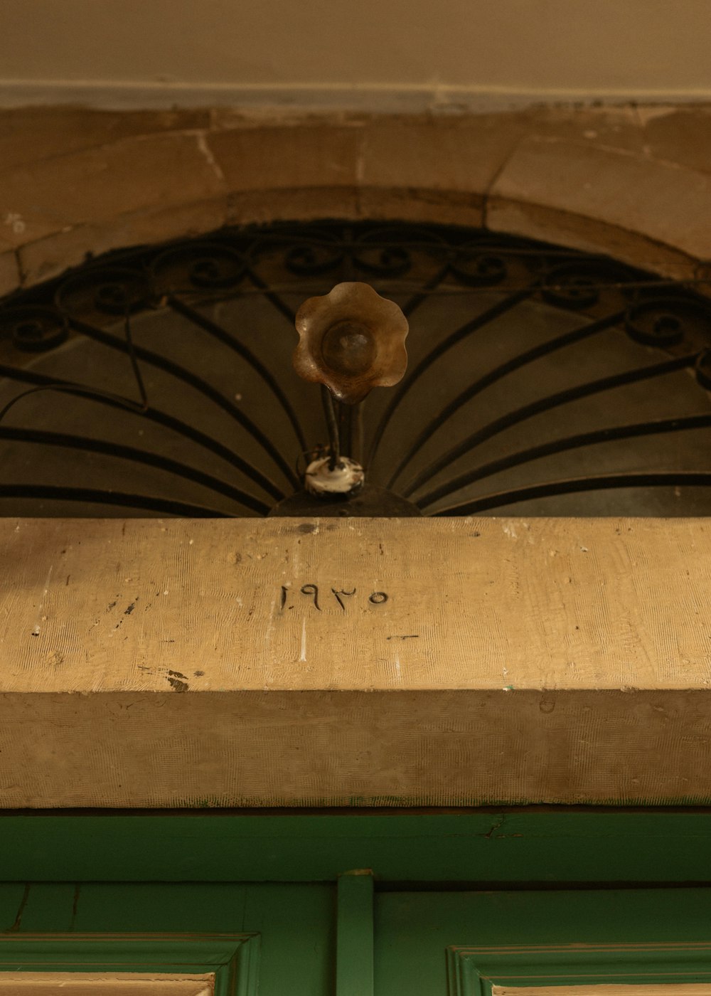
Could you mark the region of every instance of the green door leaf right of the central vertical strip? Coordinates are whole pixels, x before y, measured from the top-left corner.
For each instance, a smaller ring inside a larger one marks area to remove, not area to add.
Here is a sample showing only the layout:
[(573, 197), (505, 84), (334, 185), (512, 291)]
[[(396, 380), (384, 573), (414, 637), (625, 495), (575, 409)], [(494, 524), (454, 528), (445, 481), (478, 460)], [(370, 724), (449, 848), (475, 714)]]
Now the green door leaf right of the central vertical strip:
[[(711, 942), (711, 889), (383, 891), (375, 894), (374, 937), (375, 993), (382, 996), (485, 996), (486, 988), (472, 982), (480, 962), (486, 964), (481, 951), (502, 946), (554, 945), (557, 951), (563, 946), (563, 960), (568, 958), (569, 963), (564, 969), (551, 969), (556, 978), (548, 978), (545, 971), (536, 976), (537, 958), (539, 962), (548, 958), (554, 966), (561, 961), (550, 950), (531, 950), (523, 959), (507, 952), (509, 960), (517, 962), (511, 970), (497, 962), (502, 977), (519, 976), (517, 985), (527, 984), (527, 977), (536, 977), (543, 985), (571, 982), (584, 972), (591, 944), (699, 943), (703, 949), (696, 952), (696, 960), (678, 969), (681, 977), (675, 979), (662, 975), (678, 951), (672, 956), (671, 949), (664, 953), (639, 948), (635, 960), (646, 967), (639, 968), (638, 979), (626, 981), (711, 982), (711, 948), (706, 947)], [(593, 971), (605, 977), (595, 981), (624, 981), (629, 972), (625, 957), (617, 947), (598, 952)], [(688, 961), (690, 956), (684, 957)], [(494, 955), (488, 958), (495, 961)], [(656, 968), (649, 969), (649, 964)], [(468, 987), (462, 978), (469, 980)]]

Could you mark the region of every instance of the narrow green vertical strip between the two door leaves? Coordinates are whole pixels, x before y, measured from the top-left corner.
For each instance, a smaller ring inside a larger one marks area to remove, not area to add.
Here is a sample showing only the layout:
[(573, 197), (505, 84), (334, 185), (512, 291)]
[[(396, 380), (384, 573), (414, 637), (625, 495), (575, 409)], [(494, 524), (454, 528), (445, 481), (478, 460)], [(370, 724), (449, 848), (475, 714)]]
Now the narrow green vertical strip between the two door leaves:
[(372, 871), (339, 876), (336, 996), (372, 996)]

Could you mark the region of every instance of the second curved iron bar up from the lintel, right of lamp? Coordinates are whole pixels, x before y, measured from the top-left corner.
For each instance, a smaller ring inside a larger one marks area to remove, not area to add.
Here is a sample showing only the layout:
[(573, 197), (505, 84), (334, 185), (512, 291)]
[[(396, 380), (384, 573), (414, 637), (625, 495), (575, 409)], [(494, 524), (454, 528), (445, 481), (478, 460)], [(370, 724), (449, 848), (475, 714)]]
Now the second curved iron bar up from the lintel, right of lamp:
[(446, 498), (454, 491), (460, 491), (476, 481), (503, 470), (510, 470), (512, 467), (520, 467), (522, 464), (540, 460), (544, 456), (553, 456), (556, 453), (565, 453), (569, 449), (578, 449), (582, 446), (593, 446), (598, 442), (608, 442), (615, 439), (635, 439), (645, 435), (658, 435), (664, 432), (683, 432), (688, 429), (711, 427), (711, 413), (704, 415), (679, 415), (676, 418), (659, 418), (653, 422), (635, 422), (629, 425), (612, 425), (605, 429), (595, 429), (591, 432), (579, 432), (577, 435), (565, 436), (562, 439), (553, 439), (551, 442), (542, 443), (540, 446), (531, 446), (528, 449), (519, 450), (517, 453), (509, 453), (498, 460), (491, 460), (483, 463), (475, 470), (447, 481), (438, 488), (434, 488), (426, 495), (415, 502), (418, 508), (427, 508), (441, 498)]

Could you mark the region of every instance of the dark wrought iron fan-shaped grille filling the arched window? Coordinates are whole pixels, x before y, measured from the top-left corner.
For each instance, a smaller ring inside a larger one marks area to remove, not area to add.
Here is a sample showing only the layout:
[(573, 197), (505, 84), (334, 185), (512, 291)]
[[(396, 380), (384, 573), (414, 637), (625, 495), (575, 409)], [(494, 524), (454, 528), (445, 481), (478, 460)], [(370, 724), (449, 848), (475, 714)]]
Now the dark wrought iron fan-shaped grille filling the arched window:
[(5, 300), (0, 513), (298, 511), (326, 430), (291, 365), (294, 315), (348, 280), (403, 309), (409, 369), (338, 411), (376, 496), (341, 514), (711, 513), (711, 306), (693, 286), (481, 231), (340, 222), (113, 253)]

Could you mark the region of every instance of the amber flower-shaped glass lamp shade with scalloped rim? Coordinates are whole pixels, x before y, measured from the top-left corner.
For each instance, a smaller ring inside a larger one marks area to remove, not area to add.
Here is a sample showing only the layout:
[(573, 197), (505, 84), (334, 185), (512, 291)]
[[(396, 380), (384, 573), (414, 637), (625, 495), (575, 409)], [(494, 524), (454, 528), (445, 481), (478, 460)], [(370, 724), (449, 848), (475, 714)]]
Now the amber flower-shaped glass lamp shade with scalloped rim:
[(309, 298), (297, 313), (294, 368), (324, 383), (340, 401), (356, 404), (371, 387), (389, 387), (407, 368), (407, 319), (369, 284), (337, 284)]

